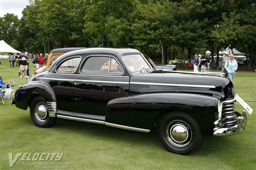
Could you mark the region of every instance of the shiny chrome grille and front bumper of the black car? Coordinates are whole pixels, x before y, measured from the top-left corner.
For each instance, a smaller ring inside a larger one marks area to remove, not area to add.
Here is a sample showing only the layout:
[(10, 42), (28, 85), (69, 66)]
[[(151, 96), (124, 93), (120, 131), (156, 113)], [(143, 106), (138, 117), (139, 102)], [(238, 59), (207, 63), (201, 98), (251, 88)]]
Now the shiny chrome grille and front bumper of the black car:
[(231, 136), (244, 131), (247, 124), (246, 111), (243, 110), (242, 114), (234, 111), (234, 102), (235, 99), (221, 103), (218, 120), (214, 122), (214, 136)]

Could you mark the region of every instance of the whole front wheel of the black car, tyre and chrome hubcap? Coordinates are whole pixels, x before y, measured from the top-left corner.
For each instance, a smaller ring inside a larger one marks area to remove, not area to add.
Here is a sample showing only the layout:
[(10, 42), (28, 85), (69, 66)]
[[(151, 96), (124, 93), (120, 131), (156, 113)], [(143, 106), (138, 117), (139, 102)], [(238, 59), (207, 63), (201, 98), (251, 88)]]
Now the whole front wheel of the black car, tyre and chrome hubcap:
[(178, 111), (161, 118), (158, 135), (165, 148), (177, 154), (191, 154), (203, 141), (198, 123), (190, 115)]

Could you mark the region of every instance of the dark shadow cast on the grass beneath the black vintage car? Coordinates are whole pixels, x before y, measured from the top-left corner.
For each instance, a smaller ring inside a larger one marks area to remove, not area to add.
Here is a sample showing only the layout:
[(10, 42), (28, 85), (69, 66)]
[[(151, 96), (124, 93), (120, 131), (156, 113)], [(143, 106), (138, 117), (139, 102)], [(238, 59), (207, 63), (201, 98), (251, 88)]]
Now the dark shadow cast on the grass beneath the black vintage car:
[[(89, 134), (90, 136), (95, 136), (95, 139), (113, 140), (113, 142), (116, 142), (117, 140), (132, 144), (141, 144), (143, 142), (145, 147), (156, 147), (157, 150), (166, 151), (158, 138), (156, 126), (151, 133), (142, 133), (98, 124), (57, 119), (56, 125), (53, 126), (53, 128), (63, 131), (76, 132), (80, 135)], [(193, 153), (192, 155), (214, 155), (220, 154), (223, 151), (234, 154), (246, 152), (240, 147), (241, 144), (237, 142), (237, 138), (240, 137), (237, 136), (234, 140), (234, 136), (214, 137), (205, 135), (202, 146), (196, 153)], [(250, 148), (247, 149), (250, 150)]]

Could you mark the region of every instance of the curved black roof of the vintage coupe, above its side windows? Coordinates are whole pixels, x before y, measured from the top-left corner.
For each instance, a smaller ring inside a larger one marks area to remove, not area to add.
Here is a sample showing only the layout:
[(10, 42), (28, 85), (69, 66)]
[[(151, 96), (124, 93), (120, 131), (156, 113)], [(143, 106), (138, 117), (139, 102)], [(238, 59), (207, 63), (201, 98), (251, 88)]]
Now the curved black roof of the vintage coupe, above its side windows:
[[(68, 53), (63, 54), (60, 56), (60, 58), (65, 58), (66, 56), (70, 55), (80, 55), (80, 54), (114, 54), (118, 58), (124, 54), (129, 53), (140, 53), (138, 49), (132, 49), (132, 48), (84, 48), (84, 49), (78, 49), (76, 51), (71, 51)], [(61, 60), (61, 59), (60, 59)]]

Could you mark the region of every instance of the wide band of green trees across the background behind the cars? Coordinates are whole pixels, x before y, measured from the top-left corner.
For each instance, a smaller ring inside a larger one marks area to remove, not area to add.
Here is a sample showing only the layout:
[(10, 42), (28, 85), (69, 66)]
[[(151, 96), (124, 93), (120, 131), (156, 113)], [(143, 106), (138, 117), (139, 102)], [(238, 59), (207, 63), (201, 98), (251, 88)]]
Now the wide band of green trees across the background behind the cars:
[[(132, 47), (164, 62), (232, 44), (255, 65), (252, 0), (30, 0), (0, 18), (0, 39), (21, 51)], [(187, 54), (187, 55), (186, 55)]]

